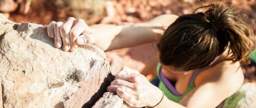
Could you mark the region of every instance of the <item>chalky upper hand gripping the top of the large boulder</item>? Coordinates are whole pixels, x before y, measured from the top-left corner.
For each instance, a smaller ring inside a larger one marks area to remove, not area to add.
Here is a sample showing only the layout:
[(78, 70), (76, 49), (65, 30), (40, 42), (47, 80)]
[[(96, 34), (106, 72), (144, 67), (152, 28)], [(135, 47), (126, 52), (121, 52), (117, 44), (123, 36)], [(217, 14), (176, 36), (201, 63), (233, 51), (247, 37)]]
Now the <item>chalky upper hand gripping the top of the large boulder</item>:
[(95, 37), (92, 29), (82, 19), (68, 18), (66, 22), (52, 21), (47, 26), (49, 37), (54, 38), (57, 48), (74, 52), (79, 45), (93, 44)]

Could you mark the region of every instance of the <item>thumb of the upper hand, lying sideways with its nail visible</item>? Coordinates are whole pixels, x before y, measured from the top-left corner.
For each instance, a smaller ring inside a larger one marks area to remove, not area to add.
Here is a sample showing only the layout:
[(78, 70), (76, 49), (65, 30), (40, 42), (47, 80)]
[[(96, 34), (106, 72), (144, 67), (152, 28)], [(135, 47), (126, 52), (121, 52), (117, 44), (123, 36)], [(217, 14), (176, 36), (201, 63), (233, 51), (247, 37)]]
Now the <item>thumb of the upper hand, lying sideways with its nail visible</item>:
[(91, 34), (82, 34), (76, 39), (76, 43), (78, 45), (93, 44), (95, 40), (95, 37)]

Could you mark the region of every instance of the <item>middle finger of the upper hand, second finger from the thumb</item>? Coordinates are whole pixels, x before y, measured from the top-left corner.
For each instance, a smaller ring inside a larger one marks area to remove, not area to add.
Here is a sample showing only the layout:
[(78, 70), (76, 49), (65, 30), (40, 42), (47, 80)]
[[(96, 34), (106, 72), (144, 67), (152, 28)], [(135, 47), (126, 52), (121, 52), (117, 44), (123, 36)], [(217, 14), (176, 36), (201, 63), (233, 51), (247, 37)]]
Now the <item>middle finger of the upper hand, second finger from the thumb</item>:
[(68, 18), (68, 21), (60, 27), (64, 51), (68, 51), (70, 49), (70, 30), (73, 27), (75, 20), (75, 18), (70, 17)]

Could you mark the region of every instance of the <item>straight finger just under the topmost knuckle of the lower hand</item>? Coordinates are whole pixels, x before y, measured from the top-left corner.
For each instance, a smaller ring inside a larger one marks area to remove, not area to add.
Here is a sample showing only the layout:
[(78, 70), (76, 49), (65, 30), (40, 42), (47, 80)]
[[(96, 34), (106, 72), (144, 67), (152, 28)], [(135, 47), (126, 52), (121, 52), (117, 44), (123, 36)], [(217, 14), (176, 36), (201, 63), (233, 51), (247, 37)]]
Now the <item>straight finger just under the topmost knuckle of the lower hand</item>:
[(116, 74), (115, 80), (117, 79), (129, 81), (129, 82), (138, 82), (140, 80), (138, 75), (129, 75), (129, 74)]

